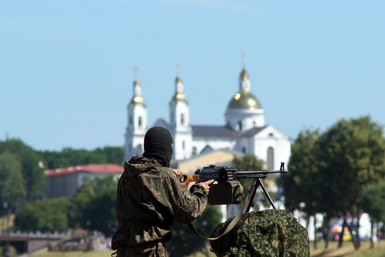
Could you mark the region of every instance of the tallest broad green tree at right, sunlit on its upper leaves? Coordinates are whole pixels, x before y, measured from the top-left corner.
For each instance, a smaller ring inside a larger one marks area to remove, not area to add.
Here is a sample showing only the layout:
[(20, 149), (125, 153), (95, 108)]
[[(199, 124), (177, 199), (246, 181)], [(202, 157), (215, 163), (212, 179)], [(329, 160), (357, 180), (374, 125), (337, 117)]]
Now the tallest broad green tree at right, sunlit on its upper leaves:
[[(327, 204), (324, 212), (348, 213), (358, 216), (358, 197), (361, 190), (385, 176), (385, 144), (382, 127), (369, 116), (341, 119), (319, 139), (319, 176), (323, 183), (320, 193)], [(352, 226), (348, 226), (353, 233)], [(340, 236), (342, 238), (342, 236)], [(355, 248), (359, 241), (353, 236)], [(340, 240), (340, 246), (342, 240)]]

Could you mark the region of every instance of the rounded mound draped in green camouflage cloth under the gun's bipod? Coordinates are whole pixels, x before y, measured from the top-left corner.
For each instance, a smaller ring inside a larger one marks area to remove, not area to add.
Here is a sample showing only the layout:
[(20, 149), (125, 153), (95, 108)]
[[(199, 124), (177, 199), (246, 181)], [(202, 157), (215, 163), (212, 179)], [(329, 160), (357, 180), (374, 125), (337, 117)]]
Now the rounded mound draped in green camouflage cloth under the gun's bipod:
[[(222, 234), (233, 218), (218, 225), (210, 237)], [(279, 209), (243, 213), (235, 228), (210, 244), (221, 257), (310, 256), (307, 230), (295, 217)]]

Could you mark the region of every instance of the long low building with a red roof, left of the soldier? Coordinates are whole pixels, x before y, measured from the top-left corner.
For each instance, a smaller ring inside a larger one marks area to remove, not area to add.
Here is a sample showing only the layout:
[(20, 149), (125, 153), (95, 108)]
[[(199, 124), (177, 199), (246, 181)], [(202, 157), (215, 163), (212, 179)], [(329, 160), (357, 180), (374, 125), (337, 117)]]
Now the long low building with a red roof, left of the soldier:
[(48, 198), (73, 196), (84, 178), (114, 175), (119, 179), (123, 171), (124, 168), (117, 164), (86, 164), (46, 170), (44, 171), (48, 176), (46, 195)]

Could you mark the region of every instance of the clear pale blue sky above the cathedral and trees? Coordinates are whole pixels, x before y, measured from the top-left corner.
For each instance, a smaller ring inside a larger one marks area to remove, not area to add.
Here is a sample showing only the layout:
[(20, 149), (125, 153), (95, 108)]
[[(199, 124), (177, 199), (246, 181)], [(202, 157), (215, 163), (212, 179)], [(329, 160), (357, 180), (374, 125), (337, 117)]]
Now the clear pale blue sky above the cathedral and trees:
[(292, 138), (341, 118), (385, 123), (384, 1), (1, 1), (0, 140), (121, 146), (134, 66), (149, 125), (176, 63), (191, 124), (223, 125), (242, 52), (251, 91)]

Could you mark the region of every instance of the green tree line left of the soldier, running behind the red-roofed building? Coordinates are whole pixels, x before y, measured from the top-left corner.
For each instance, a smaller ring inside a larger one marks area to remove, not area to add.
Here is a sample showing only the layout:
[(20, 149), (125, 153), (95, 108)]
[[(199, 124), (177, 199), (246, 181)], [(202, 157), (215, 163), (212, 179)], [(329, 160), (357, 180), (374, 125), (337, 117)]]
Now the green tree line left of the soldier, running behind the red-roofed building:
[(20, 139), (0, 141), (0, 214), (15, 213), (25, 203), (44, 198), (44, 170), (89, 163), (122, 165), (123, 156), (120, 147), (55, 152), (36, 151)]

